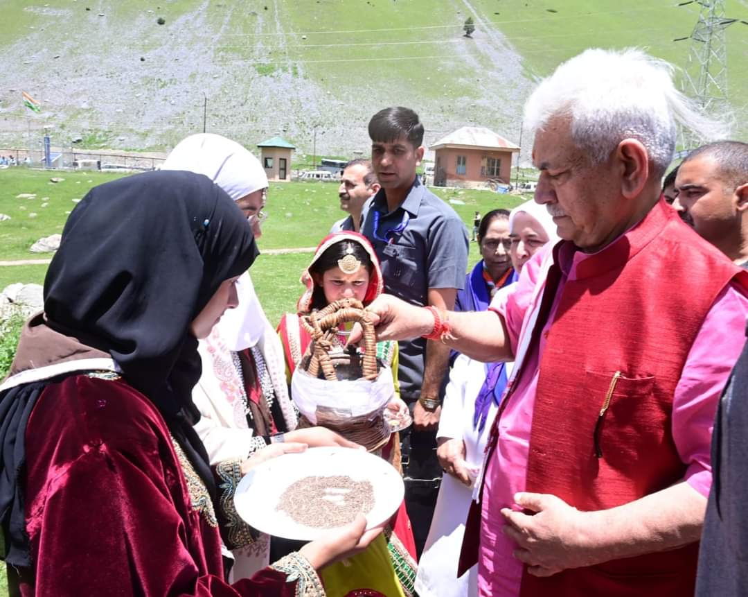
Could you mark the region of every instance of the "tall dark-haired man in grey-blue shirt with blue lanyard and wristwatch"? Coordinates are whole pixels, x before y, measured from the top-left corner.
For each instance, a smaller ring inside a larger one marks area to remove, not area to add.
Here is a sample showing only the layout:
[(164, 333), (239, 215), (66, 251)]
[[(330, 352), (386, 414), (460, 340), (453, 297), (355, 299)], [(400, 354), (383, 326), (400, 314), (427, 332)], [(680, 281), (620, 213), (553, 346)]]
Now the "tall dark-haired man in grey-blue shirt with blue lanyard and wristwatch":
[[(381, 189), (364, 209), (361, 231), (381, 261), (384, 291), (419, 306), (453, 309), (468, 269), (468, 231), (420, 183), (423, 124), (413, 110), (387, 108), (369, 123), (372, 165)], [(436, 430), (450, 351), (439, 342), (400, 342), (397, 372), (414, 425), (402, 433), (405, 503), (420, 554), (441, 479)]]

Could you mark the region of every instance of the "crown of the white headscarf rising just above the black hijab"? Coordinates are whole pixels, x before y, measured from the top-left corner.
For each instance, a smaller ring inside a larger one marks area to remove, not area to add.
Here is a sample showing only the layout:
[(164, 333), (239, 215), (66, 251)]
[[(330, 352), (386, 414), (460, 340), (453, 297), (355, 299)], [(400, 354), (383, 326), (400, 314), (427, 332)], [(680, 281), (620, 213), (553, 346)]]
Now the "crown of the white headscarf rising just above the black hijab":
[(204, 174), (234, 201), (268, 186), (268, 176), (260, 160), (236, 141), (212, 133), (180, 141), (166, 158), (162, 170)]

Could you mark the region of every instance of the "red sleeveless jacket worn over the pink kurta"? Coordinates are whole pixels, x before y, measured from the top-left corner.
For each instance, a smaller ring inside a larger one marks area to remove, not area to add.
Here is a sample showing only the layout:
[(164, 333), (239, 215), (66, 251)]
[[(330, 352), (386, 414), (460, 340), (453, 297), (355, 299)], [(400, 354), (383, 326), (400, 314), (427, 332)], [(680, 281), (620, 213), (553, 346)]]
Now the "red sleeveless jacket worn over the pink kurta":
[[(545, 293), (555, 294), (557, 267)], [(580, 262), (576, 279), (565, 282), (540, 363), (527, 491), (589, 511), (683, 479), (686, 465), (671, 431), (675, 386), (714, 300), (733, 278), (748, 287), (748, 274), (663, 201), (623, 239)], [(521, 597), (693, 595), (697, 551), (693, 544), (549, 578), (525, 569)]]

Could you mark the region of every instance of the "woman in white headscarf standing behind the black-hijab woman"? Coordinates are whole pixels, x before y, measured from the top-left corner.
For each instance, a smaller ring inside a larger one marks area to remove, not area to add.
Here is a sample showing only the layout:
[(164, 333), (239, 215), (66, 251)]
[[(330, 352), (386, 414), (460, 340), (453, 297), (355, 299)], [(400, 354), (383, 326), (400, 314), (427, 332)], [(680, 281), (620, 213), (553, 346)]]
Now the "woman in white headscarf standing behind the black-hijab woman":
[[(257, 214), (265, 203), (268, 178), (260, 160), (239, 143), (210, 133), (189, 136), (171, 151), (162, 169), (206, 175), (248, 216), (255, 237), (260, 234)], [(236, 291), (239, 306), (224, 313), (198, 348), (203, 373), (192, 399), (201, 418), (194, 428), (210, 464), (246, 458), (284, 440), (356, 446), (325, 428), (293, 431), (297, 419), (288, 396), (281, 341), (257, 300), (249, 273), (239, 277)], [(249, 577), (267, 566), (269, 536), (239, 519), (228, 521), (227, 528), (235, 559), (230, 578)]]

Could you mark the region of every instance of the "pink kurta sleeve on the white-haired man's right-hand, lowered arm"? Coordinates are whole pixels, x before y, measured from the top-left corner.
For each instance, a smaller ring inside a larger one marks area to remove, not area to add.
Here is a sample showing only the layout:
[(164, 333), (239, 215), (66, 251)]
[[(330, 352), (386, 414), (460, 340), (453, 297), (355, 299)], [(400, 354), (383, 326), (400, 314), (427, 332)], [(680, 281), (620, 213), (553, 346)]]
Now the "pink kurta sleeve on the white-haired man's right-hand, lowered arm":
[(745, 342), (748, 298), (728, 285), (714, 301), (691, 346), (675, 387), (672, 437), (685, 479), (700, 494), (711, 488), (711, 431), (717, 400)]

